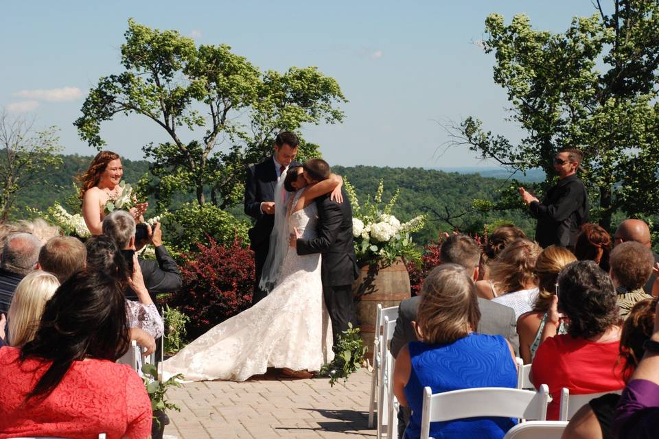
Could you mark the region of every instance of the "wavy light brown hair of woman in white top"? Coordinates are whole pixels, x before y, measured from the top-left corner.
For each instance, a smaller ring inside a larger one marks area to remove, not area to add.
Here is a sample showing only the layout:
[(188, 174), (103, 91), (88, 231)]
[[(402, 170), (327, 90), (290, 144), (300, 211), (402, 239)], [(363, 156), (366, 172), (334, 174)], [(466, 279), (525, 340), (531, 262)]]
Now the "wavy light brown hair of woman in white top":
[(542, 251), (534, 241), (516, 239), (511, 242), (492, 262), (490, 278), (501, 294), (526, 289), (537, 285), (535, 260)]

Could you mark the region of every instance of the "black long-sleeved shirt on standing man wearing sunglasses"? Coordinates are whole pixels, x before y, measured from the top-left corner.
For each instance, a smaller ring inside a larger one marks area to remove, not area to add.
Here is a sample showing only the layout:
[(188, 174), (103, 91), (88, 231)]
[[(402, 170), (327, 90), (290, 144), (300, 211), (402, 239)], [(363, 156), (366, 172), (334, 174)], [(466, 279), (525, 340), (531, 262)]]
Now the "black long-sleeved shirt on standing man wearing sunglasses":
[(537, 218), (535, 241), (542, 248), (551, 245), (573, 248), (581, 224), (588, 221), (586, 187), (573, 174), (549, 189), (542, 204), (531, 202), (529, 209)]

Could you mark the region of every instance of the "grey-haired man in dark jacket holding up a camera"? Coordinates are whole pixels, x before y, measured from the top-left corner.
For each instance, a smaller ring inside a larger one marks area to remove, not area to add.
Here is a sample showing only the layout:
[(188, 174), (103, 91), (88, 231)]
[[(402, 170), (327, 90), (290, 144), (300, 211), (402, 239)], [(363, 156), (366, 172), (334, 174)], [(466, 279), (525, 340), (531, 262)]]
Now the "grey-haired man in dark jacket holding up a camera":
[[(150, 226), (141, 224), (141, 227), (146, 228), (146, 240), (140, 239), (139, 249), (143, 248), (150, 238), (156, 251), (155, 261), (137, 259), (144, 278), (144, 285), (146, 285), (151, 300), (155, 302), (158, 294), (172, 293), (181, 289), (183, 280), (176, 267), (176, 262), (163, 246), (163, 232), (160, 223), (154, 225), (150, 237)], [(132, 258), (138, 250), (137, 241), (135, 241), (137, 226), (132, 216), (126, 211), (114, 211), (103, 219), (102, 228), (103, 234), (115, 241), (128, 261), (128, 265), (131, 265)], [(138, 300), (137, 294), (132, 289), (126, 290), (126, 298)]]

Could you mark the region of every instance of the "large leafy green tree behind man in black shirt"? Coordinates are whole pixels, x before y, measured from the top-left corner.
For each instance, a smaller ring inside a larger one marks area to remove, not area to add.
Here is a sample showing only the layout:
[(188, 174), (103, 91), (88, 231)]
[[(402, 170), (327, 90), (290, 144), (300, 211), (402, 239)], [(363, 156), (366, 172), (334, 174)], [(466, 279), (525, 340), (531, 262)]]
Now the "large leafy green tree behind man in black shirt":
[[(496, 58), (494, 82), (507, 90), (511, 120), (527, 134), (513, 143), (474, 117), (452, 128), (455, 143), (483, 158), (522, 172), (542, 167), (541, 191), (553, 185), (557, 150), (580, 147), (592, 217), (610, 228), (618, 211), (659, 212), (659, 5), (614, 0), (610, 15), (596, 6), (561, 34), (533, 29), (523, 14), (509, 25), (488, 16), (484, 44)], [(509, 192), (504, 204), (518, 206), (515, 197)]]

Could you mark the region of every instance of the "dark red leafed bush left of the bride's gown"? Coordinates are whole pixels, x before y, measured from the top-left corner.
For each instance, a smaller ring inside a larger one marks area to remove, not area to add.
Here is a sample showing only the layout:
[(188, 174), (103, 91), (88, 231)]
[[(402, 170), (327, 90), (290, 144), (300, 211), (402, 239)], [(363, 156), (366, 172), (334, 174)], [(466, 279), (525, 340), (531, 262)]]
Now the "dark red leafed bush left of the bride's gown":
[(244, 311), (252, 300), (253, 252), (243, 248), (238, 237), (224, 246), (208, 239), (208, 246), (197, 244), (198, 252), (183, 255), (183, 288), (166, 300), (189, 316), (186, 330), (191, 340)]

